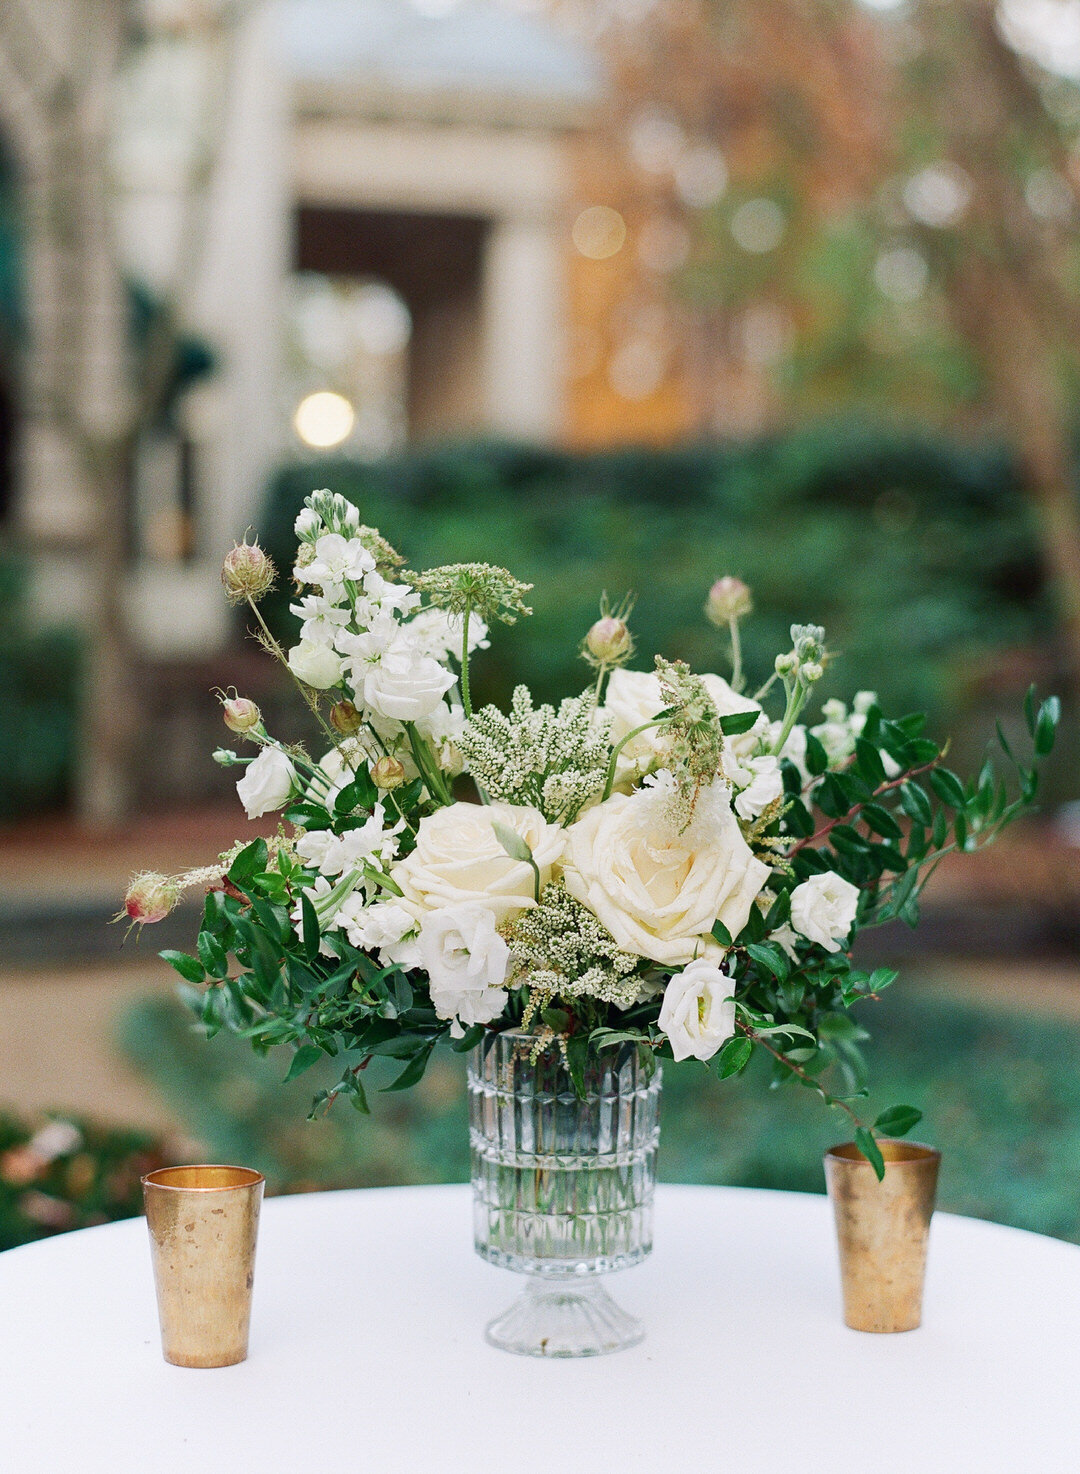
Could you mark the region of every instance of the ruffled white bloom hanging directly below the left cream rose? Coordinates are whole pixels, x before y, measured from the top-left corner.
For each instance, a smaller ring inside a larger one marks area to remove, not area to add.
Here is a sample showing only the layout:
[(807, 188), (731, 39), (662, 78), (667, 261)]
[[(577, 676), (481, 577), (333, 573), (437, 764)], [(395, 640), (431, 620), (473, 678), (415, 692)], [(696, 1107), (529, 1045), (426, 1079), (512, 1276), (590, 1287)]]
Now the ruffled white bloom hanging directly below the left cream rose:
[(510, 948), (486, 907), (467, 902), (424, 917), (418, 955), (441, 1019), (473, 1024), (499, 1016)]

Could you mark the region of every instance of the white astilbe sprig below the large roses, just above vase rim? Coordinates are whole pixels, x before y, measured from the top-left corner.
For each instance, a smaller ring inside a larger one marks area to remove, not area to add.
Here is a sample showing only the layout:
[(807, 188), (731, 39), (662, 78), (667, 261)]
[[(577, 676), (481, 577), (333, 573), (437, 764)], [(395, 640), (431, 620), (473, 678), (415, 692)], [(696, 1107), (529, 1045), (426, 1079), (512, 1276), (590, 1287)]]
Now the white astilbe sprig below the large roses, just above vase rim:
[(510, 943), (510, 988), (529, 988), (535, 1013), (553, 998), (597, 998), (629, 1008), (641, 991), (641, 958), (623, 952), (561, 880), (544, 887), (538, 907), (502, 927)]

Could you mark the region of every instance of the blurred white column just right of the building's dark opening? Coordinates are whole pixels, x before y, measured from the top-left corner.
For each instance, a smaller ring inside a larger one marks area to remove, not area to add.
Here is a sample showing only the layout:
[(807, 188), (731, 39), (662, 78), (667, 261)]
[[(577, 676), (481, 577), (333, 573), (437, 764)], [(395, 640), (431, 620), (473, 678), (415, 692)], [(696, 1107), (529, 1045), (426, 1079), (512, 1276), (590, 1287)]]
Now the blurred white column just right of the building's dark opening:
[(485, 429), (550, 441), (561, 419), (563, 251), (551, 217), (505, 217), (483, 261)]

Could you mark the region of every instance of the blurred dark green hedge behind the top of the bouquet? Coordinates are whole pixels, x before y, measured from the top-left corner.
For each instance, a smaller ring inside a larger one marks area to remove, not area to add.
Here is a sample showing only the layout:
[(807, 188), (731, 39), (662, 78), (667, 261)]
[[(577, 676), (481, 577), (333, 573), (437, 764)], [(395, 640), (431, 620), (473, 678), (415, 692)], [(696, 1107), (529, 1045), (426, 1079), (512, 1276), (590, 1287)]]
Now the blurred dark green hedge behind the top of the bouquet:
[[(952, 715), (995, 652), (1049, 629), (1031, 517), (993, 447), (831, 425), (731, 447), (573, 455), (480, 444), (305, 461), (268, 494), (262, 537), (281, 567), (317, 486), (355, 501), (414, 567), (488, 560), (536, 585), (535, 616), (499, 629), (477, 663), (494, 700), (523, 680), (548, 699), (585, 684), (578, 644), (603, 590), (638, 595), (638, 665), (663, 652), (723, 674), (723, 640), (701, 616), (720, 573), (754, 591), (751, 680), (793, 621), (827, 626), (844, 659), (822, 696), (875, 687)], [(287, 590), (276, 595), (273, 618), (292, 638), (287, 601)]]

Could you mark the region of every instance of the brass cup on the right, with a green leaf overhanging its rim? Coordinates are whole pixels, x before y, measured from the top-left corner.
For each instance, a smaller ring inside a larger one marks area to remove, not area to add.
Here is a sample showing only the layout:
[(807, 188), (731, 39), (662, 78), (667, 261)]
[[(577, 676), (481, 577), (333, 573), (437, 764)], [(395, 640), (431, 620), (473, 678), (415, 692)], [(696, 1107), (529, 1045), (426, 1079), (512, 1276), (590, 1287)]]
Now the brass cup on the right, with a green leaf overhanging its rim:
[(853, 1331), (914, 1331), (922, 1321), (927, 1240), (942, 1153), (914, 1141), (878, 1141), (886, 1176), (855, 1142), (825, 1153), (844, 1288)]

